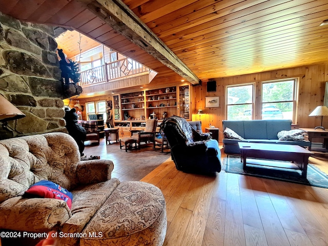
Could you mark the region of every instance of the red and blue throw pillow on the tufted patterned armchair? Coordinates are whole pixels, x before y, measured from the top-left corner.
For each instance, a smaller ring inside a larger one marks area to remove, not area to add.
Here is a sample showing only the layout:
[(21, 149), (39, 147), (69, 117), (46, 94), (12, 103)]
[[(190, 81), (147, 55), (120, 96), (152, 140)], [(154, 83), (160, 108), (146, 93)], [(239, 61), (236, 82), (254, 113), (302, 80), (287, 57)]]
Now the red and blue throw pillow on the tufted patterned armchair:
[(65, 188), (49, 180), (41, 180), (34, 183), (26, 192), (27, 195), (34, 195), (43, 198), (54, 198), (67, 202), (69, 208), (72, 207), (73, 195)]

